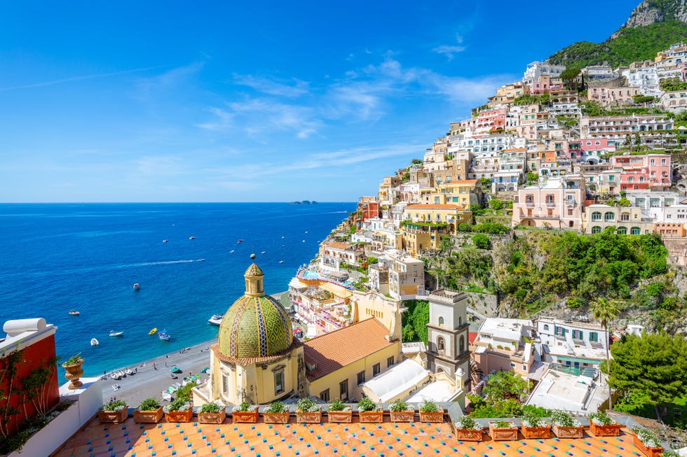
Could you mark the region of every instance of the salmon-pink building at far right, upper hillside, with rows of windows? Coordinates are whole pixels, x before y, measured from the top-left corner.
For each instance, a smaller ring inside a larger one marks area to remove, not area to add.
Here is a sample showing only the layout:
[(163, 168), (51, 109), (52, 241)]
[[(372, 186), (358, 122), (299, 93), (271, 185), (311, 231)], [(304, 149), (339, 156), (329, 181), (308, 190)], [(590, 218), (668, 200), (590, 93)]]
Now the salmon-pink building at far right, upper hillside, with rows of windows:
[(666, 190), (671, 183), (670, 155), (613, 155), (611, 167), (620, 172), (620, 190)]

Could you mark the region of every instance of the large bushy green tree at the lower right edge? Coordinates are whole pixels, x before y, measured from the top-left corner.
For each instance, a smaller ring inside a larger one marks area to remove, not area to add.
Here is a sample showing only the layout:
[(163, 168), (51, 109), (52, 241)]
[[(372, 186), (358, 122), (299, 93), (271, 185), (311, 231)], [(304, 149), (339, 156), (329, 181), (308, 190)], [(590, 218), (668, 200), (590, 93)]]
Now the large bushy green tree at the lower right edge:
[(661, 419), (667, 405), (687, 395), (687, 340), (682, 335), (625, 335), (611, 348), (609, 380), (623, 393), (646, 395)]

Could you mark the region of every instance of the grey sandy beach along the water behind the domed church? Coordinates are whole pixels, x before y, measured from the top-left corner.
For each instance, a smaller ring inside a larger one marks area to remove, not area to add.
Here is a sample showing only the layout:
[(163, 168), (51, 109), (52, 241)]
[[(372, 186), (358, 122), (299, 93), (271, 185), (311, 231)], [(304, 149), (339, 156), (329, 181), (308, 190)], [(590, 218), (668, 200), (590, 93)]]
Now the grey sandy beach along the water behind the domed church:
[[(285, 294), (288, 294), (288, 290), (270, 296), (280, 301)], [(103, 384), (103, 402), (118, 398), (119, 400), (126, 400), (129, 407), (136, 408), (142, 400), (149, 397), (161, 400), (161, 393), (166, 392), (168, 386), (171, 386), (172, 383), (178, 382), (182, 384), (184, 377), (189, 376), (191, 373), (200, 374), (203, 368), (210, 366), (210, 346), (216, 342), (216, 338), (210, 339), (193, 346), (188, 346), (181, 351), (166, 353), (162, 356), (107, 372), (108, 379), (101, 380)], [(172, 366), (182, 370), (181, 373), (177, 374), (177, 379), (170, 378), (170, 368)], [(111, 379), (111, 373), (127, 369), (135, 372), (135, 374), (128, 375), (122, 379)], [(207, 373), (201, 374), (200, 384), (207, 381), (208, 377), (209, 374)], [(120, 385), (121, 388), (114, 391), (113, 385)]]

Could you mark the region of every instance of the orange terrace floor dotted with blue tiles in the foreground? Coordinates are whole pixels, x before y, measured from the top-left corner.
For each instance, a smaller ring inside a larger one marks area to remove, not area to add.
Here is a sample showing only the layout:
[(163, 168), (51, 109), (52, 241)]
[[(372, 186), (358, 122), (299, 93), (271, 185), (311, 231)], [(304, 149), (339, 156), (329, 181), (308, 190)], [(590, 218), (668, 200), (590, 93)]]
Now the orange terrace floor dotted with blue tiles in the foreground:
[[(388, 418), (385, 418), (388, 421)], [(294, 421), (294, 418), (292, 418)], [(552, 435), (553, 436), (553, 435)], [(522, 438), (522, 435), (520, 435)], [(271, 425), (191, 423), (101, 425), (93, 420), (57, 453), (81, 456), (480, 456), (596, 457), (643, 456), (632, 434), (581, 440), (519, 440), (459, 442), (449, 423), (324, 423)]]

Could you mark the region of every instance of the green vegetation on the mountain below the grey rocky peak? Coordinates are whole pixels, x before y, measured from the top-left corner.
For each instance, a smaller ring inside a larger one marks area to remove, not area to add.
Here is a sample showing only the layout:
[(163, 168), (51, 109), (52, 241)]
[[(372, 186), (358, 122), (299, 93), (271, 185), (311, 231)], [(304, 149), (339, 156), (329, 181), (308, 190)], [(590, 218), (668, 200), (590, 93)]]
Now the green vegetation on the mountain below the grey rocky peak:
[(680, 41), (687, 41), (687, 24), (667, 20), (632, 29), (620, 29), (615, 38), (608, 38), (604, 43), (574, 43), (551, 55), (548, 60), (553, 64), (578, 67), (608, 62), (615, 68), (653, 59), (656, 52)]

